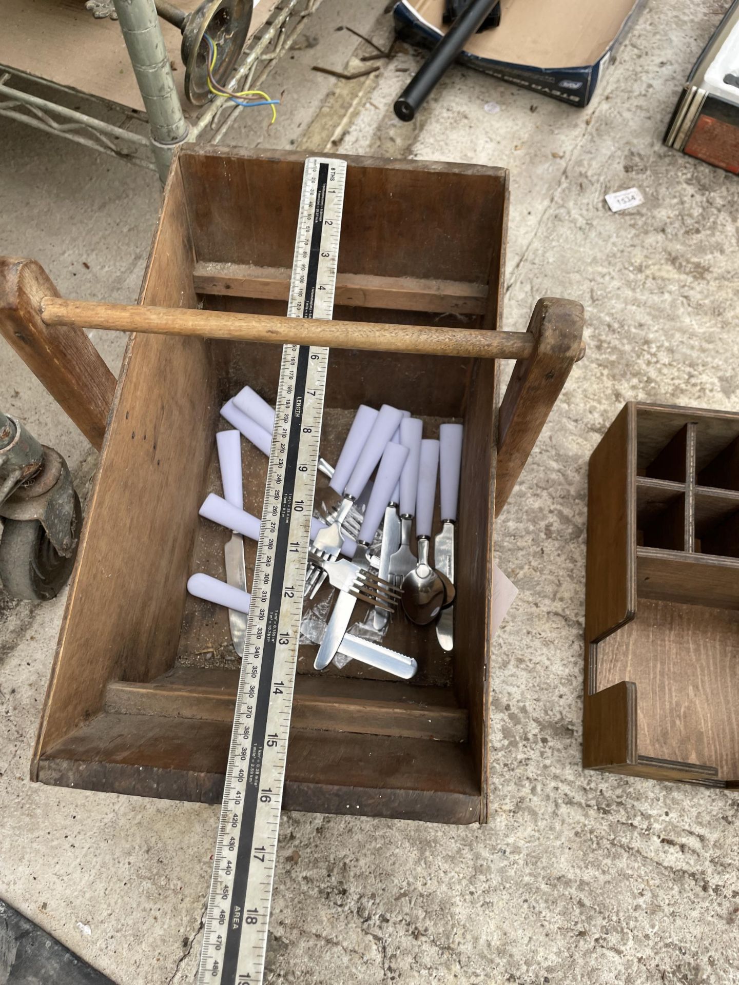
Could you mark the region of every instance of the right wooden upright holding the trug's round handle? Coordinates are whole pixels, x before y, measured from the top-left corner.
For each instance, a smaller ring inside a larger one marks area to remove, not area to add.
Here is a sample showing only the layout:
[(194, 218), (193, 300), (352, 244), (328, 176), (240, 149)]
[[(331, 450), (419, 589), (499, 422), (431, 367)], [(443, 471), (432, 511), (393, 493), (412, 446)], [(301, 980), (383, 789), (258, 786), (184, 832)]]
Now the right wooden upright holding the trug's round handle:
[(501, 403), (496, 516), (518, 481), (573, 363), (581, 358), (584, 317), (577, 301), (542, 297), (536, 302), (528, 326), (536, 340), (533, 355), (516, 362)]

